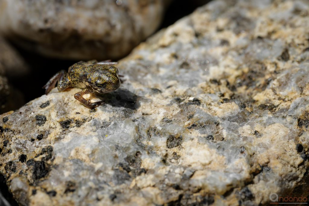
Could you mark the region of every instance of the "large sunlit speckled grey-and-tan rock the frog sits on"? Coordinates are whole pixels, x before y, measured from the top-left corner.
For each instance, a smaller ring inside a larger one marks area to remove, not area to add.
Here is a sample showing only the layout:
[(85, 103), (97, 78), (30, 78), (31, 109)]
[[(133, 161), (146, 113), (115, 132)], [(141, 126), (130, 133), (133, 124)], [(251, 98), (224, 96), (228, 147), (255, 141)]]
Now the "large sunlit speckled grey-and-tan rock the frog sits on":
[(266, 205), (307, 197), (309, 3), (220, 1), (120, 61), (89, 110), (78, 89), (0, 116), (21, 205)]

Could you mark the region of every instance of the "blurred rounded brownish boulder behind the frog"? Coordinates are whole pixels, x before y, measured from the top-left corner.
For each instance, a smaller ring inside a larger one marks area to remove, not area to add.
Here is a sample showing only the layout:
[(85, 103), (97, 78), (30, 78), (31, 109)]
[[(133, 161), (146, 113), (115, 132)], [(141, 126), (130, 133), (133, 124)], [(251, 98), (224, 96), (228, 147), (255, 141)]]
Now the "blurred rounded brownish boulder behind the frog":
[(152, 34), (170, 0), (0, 0), (0, 32), (52, 57), (116, 59)]

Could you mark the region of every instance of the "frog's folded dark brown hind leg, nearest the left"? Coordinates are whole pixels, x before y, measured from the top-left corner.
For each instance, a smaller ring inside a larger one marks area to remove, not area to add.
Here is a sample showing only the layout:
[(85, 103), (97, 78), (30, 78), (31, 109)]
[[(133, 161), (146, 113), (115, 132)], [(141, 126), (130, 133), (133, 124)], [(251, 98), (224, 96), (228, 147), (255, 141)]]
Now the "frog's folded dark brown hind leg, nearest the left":
[(58, 82), (58, 90), (62, 91), (65, 90), (70, 86), (70, 81), (67, 77), (67, 72), (65, 70), (61, 70), (60, 72), (57, 72), (52, 78), (49, 79), (49, 81), (43, 86), (43, 89), (45, 89), (45, 94), (47, 95), (50, 90), (52, 90), (56, 83)]

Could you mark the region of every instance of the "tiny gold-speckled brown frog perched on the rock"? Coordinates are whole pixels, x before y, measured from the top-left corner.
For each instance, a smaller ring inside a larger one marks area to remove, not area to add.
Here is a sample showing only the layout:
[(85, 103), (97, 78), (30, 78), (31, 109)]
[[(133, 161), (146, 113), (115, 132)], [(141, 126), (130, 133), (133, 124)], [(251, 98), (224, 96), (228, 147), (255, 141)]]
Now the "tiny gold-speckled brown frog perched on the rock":
[(69, 67), (68, 72), (61, 70), (55, 74), (44, 86), (47, 95), (52, 90), (56, 82), (59, 91), (70, 87), (83, 89), (74, 95), (74, 98), (80, 101), (88, 108), (94, 108), (103, 103), (103, 101), (91, 103), (83, 98), (83, 95), (93, 92), (108, 93), (119, 88), (121, 80), (119, 79), (117, 62), (96, 60), (79, 61)]

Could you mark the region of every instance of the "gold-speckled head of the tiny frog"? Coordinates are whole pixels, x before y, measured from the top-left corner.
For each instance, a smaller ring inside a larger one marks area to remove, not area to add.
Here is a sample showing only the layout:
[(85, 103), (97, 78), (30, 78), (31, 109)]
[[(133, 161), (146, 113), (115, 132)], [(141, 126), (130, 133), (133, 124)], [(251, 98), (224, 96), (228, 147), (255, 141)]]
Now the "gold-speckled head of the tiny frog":
[(114, 91), (120, 86), (118, 69), (114, 65), (91, 65), (91, 72), (87, 75), (87, 82), (92, 90), (99, 93)]

